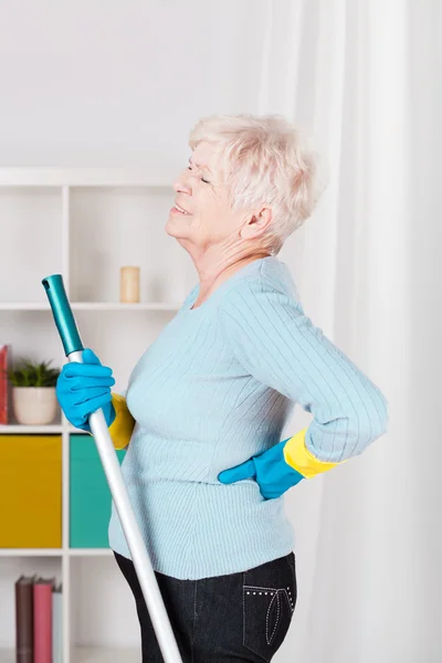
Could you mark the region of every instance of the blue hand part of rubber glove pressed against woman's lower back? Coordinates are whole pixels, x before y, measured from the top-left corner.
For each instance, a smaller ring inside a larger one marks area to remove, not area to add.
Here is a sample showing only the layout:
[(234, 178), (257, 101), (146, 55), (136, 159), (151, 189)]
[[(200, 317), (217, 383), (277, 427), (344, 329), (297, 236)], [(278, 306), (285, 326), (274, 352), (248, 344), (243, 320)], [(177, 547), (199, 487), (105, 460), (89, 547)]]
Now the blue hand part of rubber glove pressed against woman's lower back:
[(265, 499), (281, 497), (288, 488), (305, 478), (291, 467), (284, 457), (284, 446), (290, 439), (283, 440), (240, 465), (224, 470), (218, 475), (219, 481), (223, 484), (231, 484), (244, 478), (254, 478)]

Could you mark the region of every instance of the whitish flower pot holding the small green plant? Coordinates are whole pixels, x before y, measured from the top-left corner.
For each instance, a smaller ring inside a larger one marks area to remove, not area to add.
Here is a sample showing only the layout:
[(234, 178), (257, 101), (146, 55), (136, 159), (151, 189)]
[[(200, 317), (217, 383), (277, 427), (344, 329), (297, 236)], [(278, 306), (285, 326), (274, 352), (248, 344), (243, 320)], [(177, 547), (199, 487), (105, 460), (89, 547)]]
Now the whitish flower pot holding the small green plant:
[(52, 423), (57, 404), (55, 387), (12, 388), (12, 406), (18, 423), (33, 425)]

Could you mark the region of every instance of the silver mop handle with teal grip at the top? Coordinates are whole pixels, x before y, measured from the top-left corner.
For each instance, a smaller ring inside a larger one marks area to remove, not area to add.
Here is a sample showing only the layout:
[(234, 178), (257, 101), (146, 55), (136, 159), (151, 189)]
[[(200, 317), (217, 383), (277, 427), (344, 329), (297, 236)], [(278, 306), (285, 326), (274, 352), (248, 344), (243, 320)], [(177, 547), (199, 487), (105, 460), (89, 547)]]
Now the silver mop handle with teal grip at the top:
[[(52, 276), (48, 276), (43, 278), (42, 284), (46, 291), (67, 359), (83, 364), (83, 344), (67, 301), (62, 275), (53, 274)], [(99, 409), (93, 412), (90, 415), (88, 423), (98, 449), (106, 480), (118, 512), (165, 663), (182, 663), (159, 591), (157, 578), (131, 508), (103, 410)]]

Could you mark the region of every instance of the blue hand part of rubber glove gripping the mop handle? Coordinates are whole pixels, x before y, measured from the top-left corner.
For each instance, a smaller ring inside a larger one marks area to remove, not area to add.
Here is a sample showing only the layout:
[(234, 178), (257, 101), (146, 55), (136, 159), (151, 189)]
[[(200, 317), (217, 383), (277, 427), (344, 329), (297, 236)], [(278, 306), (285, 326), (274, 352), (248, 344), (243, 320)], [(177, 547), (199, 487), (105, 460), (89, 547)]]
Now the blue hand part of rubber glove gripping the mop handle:
[(56, 381), (55, 393), (66, 419), (83, 431), (91, 433), (88, 417), (103, 408), (107, 427), (115, 419), (110, 387), (115, 385), (112, 368), (102, 366), (98, 357), (88, 348), (83, 350), (83, 361), (63, 366)]

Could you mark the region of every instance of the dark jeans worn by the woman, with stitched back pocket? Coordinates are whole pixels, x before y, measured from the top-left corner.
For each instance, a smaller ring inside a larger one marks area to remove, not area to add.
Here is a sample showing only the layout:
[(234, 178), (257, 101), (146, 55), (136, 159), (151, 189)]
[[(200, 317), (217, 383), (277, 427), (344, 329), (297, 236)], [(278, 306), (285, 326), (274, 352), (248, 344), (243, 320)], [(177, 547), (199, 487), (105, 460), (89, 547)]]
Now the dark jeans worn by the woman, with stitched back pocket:
[[(143, 663), (164, 663), (135, 567), (114, 555), (135, 597)], [(155, 575), (183, 663), (263, 663), (280, 649), (296, 604), (293, 552), (201, 580)]]

